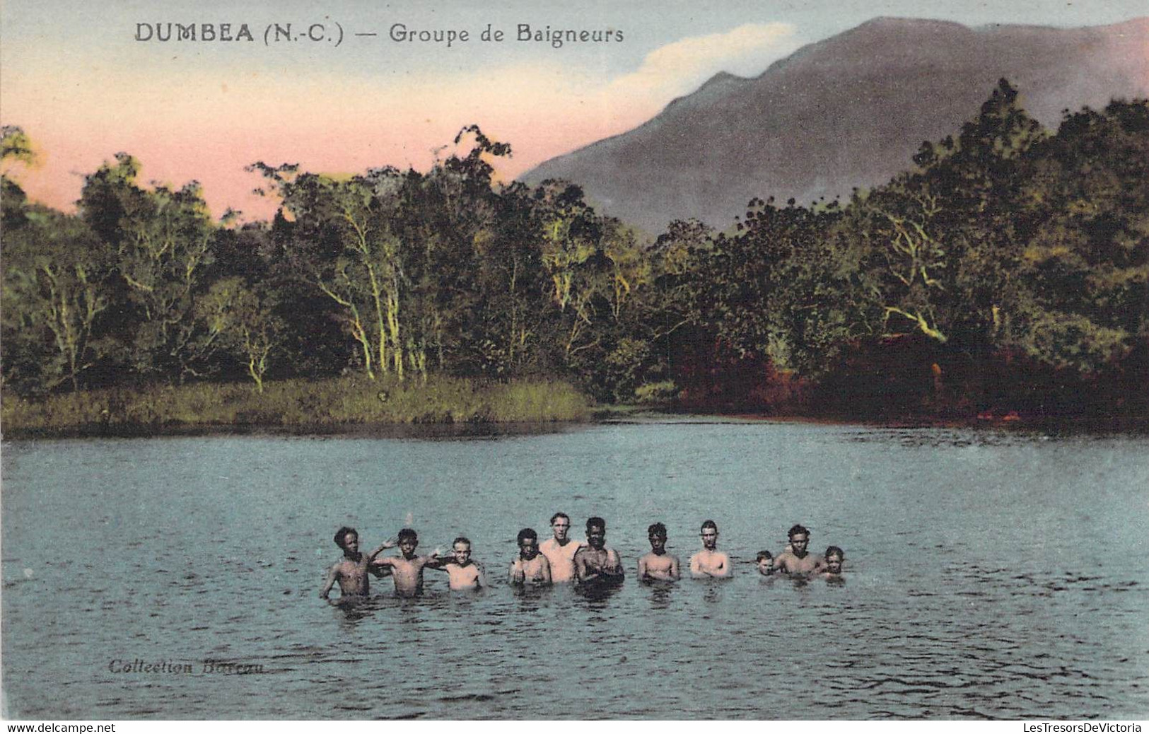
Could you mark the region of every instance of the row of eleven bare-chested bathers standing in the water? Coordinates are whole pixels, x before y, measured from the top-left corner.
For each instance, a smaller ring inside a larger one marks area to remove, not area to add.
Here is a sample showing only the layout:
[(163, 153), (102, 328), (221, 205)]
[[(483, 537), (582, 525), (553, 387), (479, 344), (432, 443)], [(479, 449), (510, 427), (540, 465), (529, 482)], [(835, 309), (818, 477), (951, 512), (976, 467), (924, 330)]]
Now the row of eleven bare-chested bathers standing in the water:
[[(586, 542), (569, 538), (571, 520), (565, 512), (556, 512), (550, 518), (553, 538), (539, 542), (538, 533), (526, 527), (519, 531), (518, 556), (508, 569), (508, 581), (514, 586), (545, 586), (573, 582), (581, 588), (618, 586), (625, 573), (618, 553), (607, 546), (607, 523), (601, 517), (586, 521)], [(700, 530), (702, 549), (691, 556), (689, 574), (693, 578), (727, 578), (732, 573), (730, 557), (718, 550), (718, 525), (714, 520), (702, 523)], [(842, 549), (831, 546), (823, 555), (808, 551), (810, 531), (795, 525), (787, 533), (789, 542), (777, 556), (762, 550), (755, 558), (755, 566), (762, 577), (787, 575), (810, 579), (824, 578), (840, 581)], [(681, 578), (678, 557), (666, 553), (666, 526), (655, 523), (647, 531), (650, 553), (639, 558), (638, 575), (647, 582), (673, 582)], [(358, 549), (358, 533), (352, 527), (340, 527), (336, 533), (336, 544), (344, 557), (331, 566), (319, 596), (327, 598), (338, 582), (345, 598), (364, 597), (370, 590), (370, 575), (391, 575), (395, 593), (415, 596), (423, 592), (424, 569), (447, 573), (452, 590), (479, 589), (487, 586), (483, 564), (471, 559), (471, 541), (456, 538), (449, 556), (438, 551), (429, 556), (415, 553), (418, 534), (404, 527), (399, 534), (380, 544), (371, 553)], [(399, 547), (400, 555), (380, 557), (384, 550)]]

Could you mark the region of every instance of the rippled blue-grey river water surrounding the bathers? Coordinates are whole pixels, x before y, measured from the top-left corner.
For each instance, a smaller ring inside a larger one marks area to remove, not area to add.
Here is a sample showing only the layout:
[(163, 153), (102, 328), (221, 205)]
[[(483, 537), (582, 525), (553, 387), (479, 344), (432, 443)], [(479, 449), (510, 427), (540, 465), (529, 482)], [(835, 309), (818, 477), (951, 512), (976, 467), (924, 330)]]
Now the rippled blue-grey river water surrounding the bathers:
[[(1144, 718), (1147, 449), (731, 422), (7, 442), (5, 713)], [(556, 510), (576, 538), (607, 519), (620, 589), (506, 584)], [(647, 525), (685, 566), (707, 518), (733, 579), (637, 582)], [(317, 597), (340, 525), (373, 547), (408, 521), (425, 553), (470, 536), (491, 588), (427, 571), (418, 600)], [(756, 574), (794, 523), (845, 548), (845, 584)]]

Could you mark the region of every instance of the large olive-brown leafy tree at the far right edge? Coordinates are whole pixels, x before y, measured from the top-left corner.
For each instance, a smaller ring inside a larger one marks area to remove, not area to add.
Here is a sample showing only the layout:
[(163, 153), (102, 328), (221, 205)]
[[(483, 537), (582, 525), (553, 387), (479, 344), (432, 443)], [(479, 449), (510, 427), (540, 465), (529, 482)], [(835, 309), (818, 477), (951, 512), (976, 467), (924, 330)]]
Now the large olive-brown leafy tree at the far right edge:
[(1003, 346), (1097, 372), (1149, 339), (1149, 102), (1067, 113), (1027, 163), (1028, 299)]

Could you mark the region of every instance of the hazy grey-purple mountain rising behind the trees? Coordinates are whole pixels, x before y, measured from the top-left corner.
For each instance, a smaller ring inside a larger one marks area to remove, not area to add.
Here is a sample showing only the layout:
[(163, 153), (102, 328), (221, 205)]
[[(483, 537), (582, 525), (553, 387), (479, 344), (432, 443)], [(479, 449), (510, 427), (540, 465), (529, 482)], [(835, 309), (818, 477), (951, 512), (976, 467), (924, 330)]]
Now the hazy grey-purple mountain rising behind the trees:
[(1149, 18), (1055, 29), (877, 18), (747, 79), (719, 74), (630, 132), (522, 178), (578, 183), (600, 210), (662, 232), (696, 217), (726, 229), (754, 196), (849, 195), (956, 134), (1005, 77), (1042, 124), (1062, 110), (1149, 96)]

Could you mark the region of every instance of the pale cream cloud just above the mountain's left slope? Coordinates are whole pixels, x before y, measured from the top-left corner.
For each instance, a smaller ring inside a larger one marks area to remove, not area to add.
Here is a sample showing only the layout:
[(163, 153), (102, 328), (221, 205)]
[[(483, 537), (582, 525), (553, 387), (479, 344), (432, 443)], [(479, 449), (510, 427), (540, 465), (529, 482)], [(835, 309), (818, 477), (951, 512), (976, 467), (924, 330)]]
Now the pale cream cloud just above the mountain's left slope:
[(658, 98), (665, 103), (719, 71), (762, 74), (800, 46), (795, 36), (789, 23), (747, 23), (724, 33), (684, 38), (651, 51), (637, 71), (615, 79), (610, 92)]

